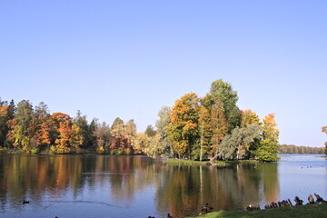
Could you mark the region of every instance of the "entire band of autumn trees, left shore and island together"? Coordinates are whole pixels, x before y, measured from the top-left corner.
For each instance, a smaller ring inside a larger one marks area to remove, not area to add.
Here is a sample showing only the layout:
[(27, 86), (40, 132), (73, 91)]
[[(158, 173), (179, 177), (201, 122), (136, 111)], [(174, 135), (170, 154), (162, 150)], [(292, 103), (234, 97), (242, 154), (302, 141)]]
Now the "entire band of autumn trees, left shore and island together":
[(192, 160), (255, 158), (278, 160), (278, 135), (273, 114), (263, 120), (236, 105), (237, 92), (223, 80), (214, 81), (203, 97), (184, 94), (173, 107), (160, 110), (155, 128), (137, 133), (134, 120), (120, 118), (111, 126), (90, 124), (79, 111), (72, 118), (50, 114), (40, 103), (23, 100), (15, 105), (0, 100), (0, 146), (25, 153), (147, 154)]

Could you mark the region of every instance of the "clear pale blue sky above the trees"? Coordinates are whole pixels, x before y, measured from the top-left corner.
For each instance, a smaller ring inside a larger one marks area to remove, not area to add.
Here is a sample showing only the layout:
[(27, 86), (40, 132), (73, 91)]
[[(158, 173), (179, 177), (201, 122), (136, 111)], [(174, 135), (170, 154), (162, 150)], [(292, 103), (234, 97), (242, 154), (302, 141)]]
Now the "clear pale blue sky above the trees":
[(233, 85), (281, 144), (327, 135), (327, 1), (0, 1), (0, 97), (112, 124)]

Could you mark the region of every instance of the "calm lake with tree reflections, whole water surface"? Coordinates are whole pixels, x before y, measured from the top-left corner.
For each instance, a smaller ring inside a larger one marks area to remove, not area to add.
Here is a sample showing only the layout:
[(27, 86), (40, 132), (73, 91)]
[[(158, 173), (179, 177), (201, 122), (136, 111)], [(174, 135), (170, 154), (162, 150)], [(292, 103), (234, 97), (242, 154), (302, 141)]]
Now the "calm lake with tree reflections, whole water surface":
[(213, 167), (146, 156), (0, 155), (0, 217), (184, 217), (205, 203), (229, 211), (296, 195), (327, 199), (325, 158), (280, 156)]

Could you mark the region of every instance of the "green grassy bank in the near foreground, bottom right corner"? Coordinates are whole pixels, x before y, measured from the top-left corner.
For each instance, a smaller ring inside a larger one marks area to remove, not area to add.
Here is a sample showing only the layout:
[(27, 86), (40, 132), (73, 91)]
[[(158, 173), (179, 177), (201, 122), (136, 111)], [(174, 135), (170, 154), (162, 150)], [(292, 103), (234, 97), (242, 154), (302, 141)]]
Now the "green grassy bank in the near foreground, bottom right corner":
[[(201, 218), (326, 218), (327, 203), (294, 207), (280, 207), (261, 211), (213, 212), (196, 216)], [(194, 217), (193, 217), (194, 218)]]

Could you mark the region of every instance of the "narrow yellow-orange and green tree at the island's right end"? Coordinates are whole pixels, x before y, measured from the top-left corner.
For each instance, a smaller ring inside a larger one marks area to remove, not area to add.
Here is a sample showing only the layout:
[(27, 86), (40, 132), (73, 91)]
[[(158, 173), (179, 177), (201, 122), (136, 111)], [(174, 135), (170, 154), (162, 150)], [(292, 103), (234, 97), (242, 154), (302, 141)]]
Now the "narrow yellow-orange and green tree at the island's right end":
[(279, 131), (274, 120), (274, 114), (268, 114), (263, 118), (263, 140), (255, 152), (255, 158), (264, 161), (278, 161), (278, 136)]

